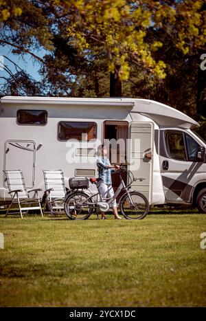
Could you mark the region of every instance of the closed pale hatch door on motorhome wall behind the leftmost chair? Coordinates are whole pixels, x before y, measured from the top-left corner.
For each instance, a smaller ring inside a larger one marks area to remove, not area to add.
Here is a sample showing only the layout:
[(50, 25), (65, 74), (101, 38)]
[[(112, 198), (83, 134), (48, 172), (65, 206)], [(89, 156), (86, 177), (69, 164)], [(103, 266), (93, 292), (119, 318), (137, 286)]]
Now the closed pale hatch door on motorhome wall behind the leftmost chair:
[[(4, 170), (22, 170), (26, 188), (34, 187), (36, 143), (33, 140), (7, 140), (4, 150)], [(3, 185), (7, 188), (5, 177)]]

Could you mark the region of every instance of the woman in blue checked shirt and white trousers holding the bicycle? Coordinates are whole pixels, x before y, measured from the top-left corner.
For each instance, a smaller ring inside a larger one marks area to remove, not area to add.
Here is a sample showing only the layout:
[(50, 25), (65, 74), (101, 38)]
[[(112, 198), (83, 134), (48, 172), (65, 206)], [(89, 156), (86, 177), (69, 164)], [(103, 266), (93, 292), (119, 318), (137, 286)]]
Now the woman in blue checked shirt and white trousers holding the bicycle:
[[(98, 165), (98, 172), (99, 172), (99, 184), (98, 184), (98, 190), (100, 194), (102, 195), (103, 199), (106, 199), (107, 197), (113, 197), (114, 190), (112, 187), (112, 181), (111, 181), (111, 173), (115, 172), (113, 168), (114, 166), (111, 166), (109, 159), (106, 157), (107, 154), (107, 148), (106, 146), (101, 146), (101, 155), (98, 157), (97, 165)], [(118, 170), (119, 165), (115, 165), (115, 168)], [(116, 200), (114, 200), (111, 203), (111, 206), (113, 207), (113, 213), (115, 215), (115, 219), (122, 219), (122, 217), (119, 217), (119, 214), (117, 213), (117, 203)], [(106, 219), (104, 212), (102, 212), (102, 219)]]

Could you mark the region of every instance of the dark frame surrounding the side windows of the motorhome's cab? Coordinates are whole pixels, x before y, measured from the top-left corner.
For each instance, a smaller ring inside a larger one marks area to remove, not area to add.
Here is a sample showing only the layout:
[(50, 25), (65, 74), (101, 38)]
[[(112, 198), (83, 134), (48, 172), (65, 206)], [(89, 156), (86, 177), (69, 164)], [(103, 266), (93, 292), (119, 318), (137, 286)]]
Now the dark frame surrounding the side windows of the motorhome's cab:
[[(185, 147), (185, 159), (177, 159), (176, 157), (172, 157), (172, 155), (170, 154), (170, 145), (168, 142), (168, 134), (174, 134), (174, 135), (183, 135), (183, 143), (184, 143), (184, 147)], [(192, 140), (194, 140), (196, 142), (196, 144), (198, 144), (199, 146), (201, 146), (199, 144), (199, 142), (197, 142), (194, 137), (188, 133), (185, 133), (185, 131), (175, 131), (175, 130), (166, 130), (165, 131), (165, 151), (168, 155), (168, 158), (170, 159), (174, 159), (176, 161), (179, 162), (198, 162), (198, 159), (191, 159), (188, 155), (188, 147), (187, 147), (187, 141), (186, 141), (186, 136), (190, 137)]]

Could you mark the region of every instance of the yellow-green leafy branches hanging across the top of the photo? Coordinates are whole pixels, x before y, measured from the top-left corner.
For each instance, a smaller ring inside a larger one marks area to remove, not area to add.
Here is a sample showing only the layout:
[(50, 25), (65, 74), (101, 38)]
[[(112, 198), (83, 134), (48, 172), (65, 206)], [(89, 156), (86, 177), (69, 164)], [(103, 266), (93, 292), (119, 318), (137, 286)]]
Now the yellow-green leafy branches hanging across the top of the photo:
[[(204, 47), (203, 3), (191, 0), (51, 1), (67, 21), (69, 43), (85, 55), (96, 56), (100, 52), (106, 55), (108, 71), (113, 75), (111, 85), (117, 85), (119, 91), (120, 81), (128, 79), (130, 61), (142, 65), (159, 79), (165, 78), (165, 63), (155, 60), (153, 55), (163, 43), (155, 38), (148, 42), (148, 30), (162, 30), (183, 54), (194, 47)], [(116, 93), (113, 86), (111, 92)]]

